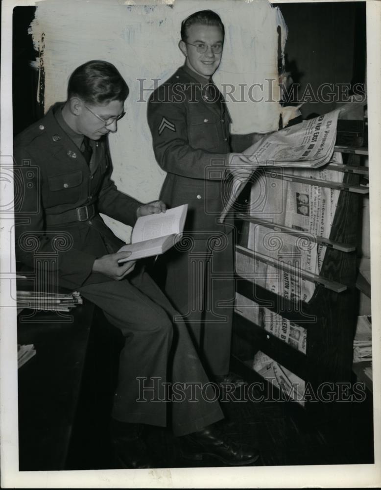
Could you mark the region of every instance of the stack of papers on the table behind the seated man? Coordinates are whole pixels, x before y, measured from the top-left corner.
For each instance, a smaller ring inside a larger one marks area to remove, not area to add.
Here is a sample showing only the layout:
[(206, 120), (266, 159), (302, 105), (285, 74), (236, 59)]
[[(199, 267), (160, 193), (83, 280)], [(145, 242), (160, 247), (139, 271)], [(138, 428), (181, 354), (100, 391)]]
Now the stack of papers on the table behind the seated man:
[(67, 312), (78, 304), (82, 304), (82, 298), (77, 291), (60, 294), (17, 290), (18, 310), (29, 308), (32, 310)]

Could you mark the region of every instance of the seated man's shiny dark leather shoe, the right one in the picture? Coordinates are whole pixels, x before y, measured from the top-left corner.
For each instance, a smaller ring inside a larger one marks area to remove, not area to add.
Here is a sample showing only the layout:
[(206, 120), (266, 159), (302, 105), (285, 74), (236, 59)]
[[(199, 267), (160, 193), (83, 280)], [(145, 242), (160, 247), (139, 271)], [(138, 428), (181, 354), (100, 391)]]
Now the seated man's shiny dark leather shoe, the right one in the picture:
[(260, 454), (247, 444), (238, 444), (215, 425), (181, 438), (181, 452), (186, 459), (201, 461), (204, 456), (219, 459), (225, 465), (244, 466), (255, 463)]

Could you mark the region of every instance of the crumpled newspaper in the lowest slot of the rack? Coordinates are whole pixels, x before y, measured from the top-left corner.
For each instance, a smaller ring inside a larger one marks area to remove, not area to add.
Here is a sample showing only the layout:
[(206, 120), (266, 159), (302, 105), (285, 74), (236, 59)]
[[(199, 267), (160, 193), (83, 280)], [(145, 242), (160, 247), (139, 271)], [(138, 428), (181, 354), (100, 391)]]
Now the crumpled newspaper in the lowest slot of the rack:
[(306, 382), (303, 379), (261, 351), (258, 351), (254, 356), (252, 368), (279, 390), (285, 392), (286, 396), (304, 407)]

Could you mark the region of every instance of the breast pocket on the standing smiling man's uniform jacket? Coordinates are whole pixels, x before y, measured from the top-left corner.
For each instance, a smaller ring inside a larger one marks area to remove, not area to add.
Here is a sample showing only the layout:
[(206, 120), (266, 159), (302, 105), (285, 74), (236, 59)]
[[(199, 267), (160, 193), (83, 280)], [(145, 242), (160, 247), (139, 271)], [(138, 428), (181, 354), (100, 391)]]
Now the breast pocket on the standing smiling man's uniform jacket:
[(218, 147), (216, 117), (208, 112), (191, 115), (188, 121), (188, 140), (193, 148), (213, 150)]

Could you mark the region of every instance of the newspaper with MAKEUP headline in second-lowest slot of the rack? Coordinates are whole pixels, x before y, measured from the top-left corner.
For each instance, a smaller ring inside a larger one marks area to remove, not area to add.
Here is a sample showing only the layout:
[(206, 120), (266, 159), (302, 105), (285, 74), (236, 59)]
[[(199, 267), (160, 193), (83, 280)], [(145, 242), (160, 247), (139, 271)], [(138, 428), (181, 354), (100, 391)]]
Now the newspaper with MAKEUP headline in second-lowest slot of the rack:
[(288, 343), (294, 349), (306, 354), (307, 330), (304, 327), (260, 306), (239, 293), (236, 293), (235, 311), (242, 317), (256, 323), (266, 332)]

